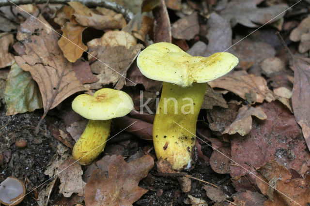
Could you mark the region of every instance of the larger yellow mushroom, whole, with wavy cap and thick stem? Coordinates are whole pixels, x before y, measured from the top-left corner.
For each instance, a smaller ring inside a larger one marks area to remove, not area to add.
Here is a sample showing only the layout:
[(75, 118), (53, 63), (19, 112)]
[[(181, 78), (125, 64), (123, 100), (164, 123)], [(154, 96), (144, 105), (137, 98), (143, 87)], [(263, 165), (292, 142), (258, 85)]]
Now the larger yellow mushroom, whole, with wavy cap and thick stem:
[(146, 77), (163, 81), (153, 123), (156, 156), (174, 170), (189, 169), (206, 82), (227, 74), (238, 59), (227, 52), (192, 57), (174, 44), (156, 43), (140, 52), (137, 64)]

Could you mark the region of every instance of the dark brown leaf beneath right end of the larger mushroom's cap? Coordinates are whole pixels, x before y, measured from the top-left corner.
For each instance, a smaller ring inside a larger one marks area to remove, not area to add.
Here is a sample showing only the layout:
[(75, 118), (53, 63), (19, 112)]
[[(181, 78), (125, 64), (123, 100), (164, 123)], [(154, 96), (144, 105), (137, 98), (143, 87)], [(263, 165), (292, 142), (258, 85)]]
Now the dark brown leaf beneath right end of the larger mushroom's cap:
[(202, 109), (212, 109), (213, 106), (228, 108), (222, 94), (214, 91), (213, 88), (208, 85), (203, 97)]

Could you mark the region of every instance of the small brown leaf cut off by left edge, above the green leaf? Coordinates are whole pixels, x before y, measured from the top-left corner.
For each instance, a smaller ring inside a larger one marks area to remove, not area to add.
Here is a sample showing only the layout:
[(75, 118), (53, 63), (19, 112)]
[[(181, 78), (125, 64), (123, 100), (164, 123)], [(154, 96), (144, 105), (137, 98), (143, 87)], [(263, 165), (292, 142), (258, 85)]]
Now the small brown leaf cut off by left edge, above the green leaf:
[(9, 53), (9, 47), (14, 43), (14, 35), (9, 33), (0, 33), (0, 68), (8, 67), (13, 64), (14, 56)]

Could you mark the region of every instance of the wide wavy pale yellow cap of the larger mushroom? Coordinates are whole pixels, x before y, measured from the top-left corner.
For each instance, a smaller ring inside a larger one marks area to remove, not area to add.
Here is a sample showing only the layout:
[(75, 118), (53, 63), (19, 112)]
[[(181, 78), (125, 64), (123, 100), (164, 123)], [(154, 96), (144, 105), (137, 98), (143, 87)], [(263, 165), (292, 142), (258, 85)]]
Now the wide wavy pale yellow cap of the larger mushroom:
[(150, 79), (187, 87), (193, 82), (209, 82), (227, 74), (238, 64), (238, 58), (228, 52), (192, 57), (174, 44), (160, 42), (141, 51), (137, 64)]

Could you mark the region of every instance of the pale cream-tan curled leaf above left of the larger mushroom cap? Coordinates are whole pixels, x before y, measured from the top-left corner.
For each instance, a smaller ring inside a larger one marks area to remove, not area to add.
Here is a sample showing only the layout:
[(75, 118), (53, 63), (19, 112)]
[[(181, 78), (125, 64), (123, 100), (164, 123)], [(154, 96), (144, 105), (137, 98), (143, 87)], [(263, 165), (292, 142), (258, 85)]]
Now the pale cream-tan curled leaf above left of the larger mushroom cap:
[[(125, 46), (129, 49), (131, 46), (137, 44), (135, 37), (125, 31), (107, 31), (102, 37), (93, 39), (87, 43), (87, 46), (91, 49), (94, 46)], [(89, 57), (91, 59), (91, 57)]]

